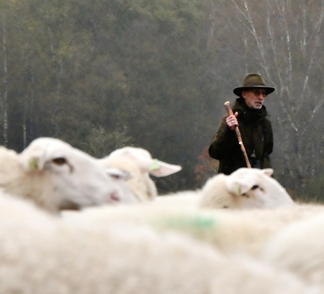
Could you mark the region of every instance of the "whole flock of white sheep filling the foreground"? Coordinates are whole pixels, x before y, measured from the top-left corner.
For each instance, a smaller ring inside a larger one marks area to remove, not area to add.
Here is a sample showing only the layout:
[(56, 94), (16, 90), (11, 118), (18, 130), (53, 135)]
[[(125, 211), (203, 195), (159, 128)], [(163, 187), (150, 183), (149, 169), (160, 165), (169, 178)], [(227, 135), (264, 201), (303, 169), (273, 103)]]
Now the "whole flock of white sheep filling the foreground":
[(39, 138), (0, 160), (0, 293), (324, 293), (323, 206), (271, 169), (158, 195), (150, 176), (181, 167), (142, 148)]

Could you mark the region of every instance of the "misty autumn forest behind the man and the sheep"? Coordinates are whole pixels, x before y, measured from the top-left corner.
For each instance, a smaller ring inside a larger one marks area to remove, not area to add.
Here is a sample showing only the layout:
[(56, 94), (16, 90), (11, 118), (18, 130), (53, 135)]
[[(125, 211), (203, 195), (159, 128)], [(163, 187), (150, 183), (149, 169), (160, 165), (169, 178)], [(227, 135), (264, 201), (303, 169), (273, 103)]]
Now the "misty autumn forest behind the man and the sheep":
[(199, 188), (224, 102), (258, 72), (276, 88), (274, 176), (322, 200), (323, 0), (0, 0), (0, 13), (1, 145), (138, 146), (183, 167), (154, 179), (161, 193)]

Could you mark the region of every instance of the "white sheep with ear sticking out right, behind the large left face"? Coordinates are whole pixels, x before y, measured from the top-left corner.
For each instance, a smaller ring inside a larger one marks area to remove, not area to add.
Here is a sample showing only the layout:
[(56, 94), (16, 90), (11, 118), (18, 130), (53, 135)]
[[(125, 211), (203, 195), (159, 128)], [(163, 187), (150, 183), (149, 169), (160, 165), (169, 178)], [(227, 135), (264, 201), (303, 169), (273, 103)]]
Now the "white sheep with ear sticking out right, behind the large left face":
[(180, 165), (171, 165), (153, 159), (149, 151), (143, 148), (126, 146), (99, 159), (103, 167), (117, 167), (132, 174), (126, 181), (139, 202), (150, 201), (158, 195), (156, 185), (150, 175), (166, 177), (182, 170)]

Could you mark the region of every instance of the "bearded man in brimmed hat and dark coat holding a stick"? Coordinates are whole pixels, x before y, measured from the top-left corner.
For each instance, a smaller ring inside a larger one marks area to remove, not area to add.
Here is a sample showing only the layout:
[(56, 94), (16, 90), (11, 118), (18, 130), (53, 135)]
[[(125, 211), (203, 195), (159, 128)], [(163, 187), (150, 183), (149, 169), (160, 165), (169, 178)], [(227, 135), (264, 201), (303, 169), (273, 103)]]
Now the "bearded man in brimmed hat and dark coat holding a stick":
[[(242, 87), (233, 90), (234, 94), (239, 96), (232, 107), (233, 114), (221, 118), (208, 149), (211, 158), (220, 162), (218, 173), (231, 174), (240, 167), (271, 167), (273, 131), (263, 103), (273, 91), (275, 88), (266, 86), (261, 75), (256, 73), (246, 75)], [(237, 127), (242, 136), (248, 162), (235, 134)]]

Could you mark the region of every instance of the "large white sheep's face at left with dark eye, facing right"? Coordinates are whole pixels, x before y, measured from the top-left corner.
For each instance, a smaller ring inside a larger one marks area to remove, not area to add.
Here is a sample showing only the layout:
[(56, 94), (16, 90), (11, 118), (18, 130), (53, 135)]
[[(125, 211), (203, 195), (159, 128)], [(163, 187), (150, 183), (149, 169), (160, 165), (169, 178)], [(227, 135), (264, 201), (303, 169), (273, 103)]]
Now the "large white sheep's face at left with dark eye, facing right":
[(120, 179), (107, 174), (92, 156), (61, 140), (36, 139), (20, 154), (20, 162), (27, 176), (42, 187), (42, 195), (33, 197), (42, 198), (49, 210), (133, 201)]

